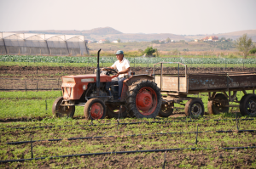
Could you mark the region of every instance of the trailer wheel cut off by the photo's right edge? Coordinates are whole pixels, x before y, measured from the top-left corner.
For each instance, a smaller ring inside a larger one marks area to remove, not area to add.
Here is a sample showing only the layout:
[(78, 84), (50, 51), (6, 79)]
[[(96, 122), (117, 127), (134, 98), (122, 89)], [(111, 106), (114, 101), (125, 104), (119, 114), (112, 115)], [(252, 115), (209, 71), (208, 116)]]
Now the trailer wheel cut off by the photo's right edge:
[(256, 115), (256, 95), (246, 94), (241, 98), (239, 109), (241, 115)]

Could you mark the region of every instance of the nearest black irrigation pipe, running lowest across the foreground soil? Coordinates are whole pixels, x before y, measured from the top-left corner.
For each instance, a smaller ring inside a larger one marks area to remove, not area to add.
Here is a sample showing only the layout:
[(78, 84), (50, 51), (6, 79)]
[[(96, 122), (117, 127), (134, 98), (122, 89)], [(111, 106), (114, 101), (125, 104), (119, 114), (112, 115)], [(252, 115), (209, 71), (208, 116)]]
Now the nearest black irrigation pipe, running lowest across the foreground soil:
[[(165, 151), (178, 151), (183, 149), (197, 150), (197, 149), (216, 149), (216, 148), (182, 148), (182, 149), (148, 149), (148, 150), (135, 150), (135, 151), (113, 151), (113, 152), (103, 152), (103, 153), (87, 153), (87, 154), (77, 154), (77, 155), (60, 155), (60, 156), (49, 156), (49, 157), (39, 157), (31, 159), (18, 159), (18, 160), (9, 160), (9, 161), (0, 161), (0, 163), (8, 162), (22, 162), (22, 161), (38, 161), (44, 159), (55, 159), (55, 158), (66, 158), (73, 156), (90, 156), (90, 155), (122, 155), (122, 154), (135, 154), (135, 153), (147, 153), (147, 152), (165, 152)], [(256, 149), (256, 146), (247, 146), (247, 147), (223, 147), (218, 149)]]

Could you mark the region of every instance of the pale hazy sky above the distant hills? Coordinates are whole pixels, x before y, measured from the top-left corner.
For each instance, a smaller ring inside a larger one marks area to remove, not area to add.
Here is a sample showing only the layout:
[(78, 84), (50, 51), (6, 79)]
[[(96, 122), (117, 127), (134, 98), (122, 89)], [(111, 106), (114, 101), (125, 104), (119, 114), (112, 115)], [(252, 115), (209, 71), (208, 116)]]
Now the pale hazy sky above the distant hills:
[(0, 31), (218, 34), (256, 29), (256, 0), (0, 0)]

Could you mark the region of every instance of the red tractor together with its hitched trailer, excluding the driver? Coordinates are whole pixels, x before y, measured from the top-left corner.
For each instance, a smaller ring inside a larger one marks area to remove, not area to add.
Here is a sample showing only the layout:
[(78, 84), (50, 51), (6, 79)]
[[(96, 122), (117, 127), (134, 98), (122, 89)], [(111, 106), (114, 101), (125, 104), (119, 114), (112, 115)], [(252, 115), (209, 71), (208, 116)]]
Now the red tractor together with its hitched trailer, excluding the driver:
[[(106, 90), (116, 70), (99, 68), (100, 51), (97, 55), (96, 74), (62, 76), (62, 97), (55, 99), (52, 113), (56, 117), (73, 117), (75, 106), (84, 106), (85, 119), (155, 118), (157, 115), (167, 117), (174, 109), (183, 109), (186, 115), (204, 115), (204, 104), (200, 98), (189, 97), (189, 94), (208, 93), (208, 112), (218, 114), (228, 112), (230, 107), (239, 107), (241, 115), (256, 115), (255, 72), (240, 73), (203, 73), (188, 74), (187, 65), (179, 62), (160, 62), (154, 65), (149, 75), (127, 76), (119, 99), (119, 85)], [(176, 74), (163, 74), (163, 65), (177, 64)], [(160, 65), (160, 69), (156, 66)], [(179, 66), (182, 65), (183, 72)], [(160, 73), (156, 73), (160, 70)], [(149, 72), (149, 71), (148, 71)], [(252, 90), (252, 93), (247, 93)], [(236, 97), (242, 91), (241, 100)], [(183, 101), (188, 100), (186, 104)], [(232, 105), (230, 102), (239, 103)], [(174, 107), (174, 103), (184, 105)]]

